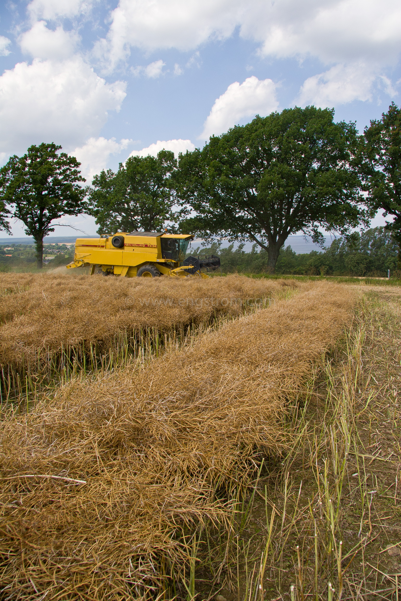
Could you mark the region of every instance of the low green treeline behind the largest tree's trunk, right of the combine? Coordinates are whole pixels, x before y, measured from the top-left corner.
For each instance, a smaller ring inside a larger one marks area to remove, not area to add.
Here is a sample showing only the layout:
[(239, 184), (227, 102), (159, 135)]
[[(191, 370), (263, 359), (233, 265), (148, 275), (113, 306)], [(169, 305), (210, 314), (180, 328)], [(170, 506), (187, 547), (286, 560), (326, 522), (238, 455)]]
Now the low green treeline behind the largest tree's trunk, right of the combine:
[[(221, 248), (214, 243), (209, 248), (198, 247), (192, 254), (215, 254), (220, 257), (224, 273), (267, 273), (268, 253), (258, 251), (253, 245), (251, 252), (244, 252), (243, 245), (234, 250), (231, 244)], [(311, 251), (296, 254), (287, 246), (280, 249), (275, 273), (287, 275), (349, 275), (349, 276), (387, 276), (397, 270), (398, 245), (389, 231), (376, 227), (360, 234), (355, 232), (347, 237), (335, 239), (324, 251)]]

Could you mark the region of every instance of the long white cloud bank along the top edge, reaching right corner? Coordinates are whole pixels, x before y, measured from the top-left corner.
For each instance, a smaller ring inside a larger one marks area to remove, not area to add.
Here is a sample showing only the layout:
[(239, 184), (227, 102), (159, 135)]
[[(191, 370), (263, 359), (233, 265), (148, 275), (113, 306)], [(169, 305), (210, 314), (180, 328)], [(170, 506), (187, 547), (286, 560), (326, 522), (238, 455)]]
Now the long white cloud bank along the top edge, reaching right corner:
[[(77, 0), (75, 0), (77, 1)], [(236, 28), (263, 56), (388, 64), (401, 50), (399, 0), (120, 0), (96, 54), (111, 68), (130, 53), (194, 50)]]

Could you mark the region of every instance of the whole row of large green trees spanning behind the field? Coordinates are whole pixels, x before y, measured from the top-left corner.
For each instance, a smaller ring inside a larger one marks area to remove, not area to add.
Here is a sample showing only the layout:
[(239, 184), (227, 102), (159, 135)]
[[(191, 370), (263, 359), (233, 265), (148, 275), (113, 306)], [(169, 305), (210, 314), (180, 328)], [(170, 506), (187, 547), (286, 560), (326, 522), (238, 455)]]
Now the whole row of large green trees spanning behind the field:
[(10, 231), (13, 217), (25, 224), (38, 267), (54, 220), (80, 213), (96, 218), (99, 234), (167, 228), (205, 242), (250, 240), (268, 252), (274, 272), (290, 234), (323, 243), (319, 228), (347, 236), (382, 209), (401, 260), (401, 110), (394, 103), (363, 135), (355, 123), (335, 123), (334, 109), (257, 116), (178, 159), (167, 150), (129, 157), (91, 186), (81, 163), (60, 150), (32, 145), (0, 170), (0, 228)]

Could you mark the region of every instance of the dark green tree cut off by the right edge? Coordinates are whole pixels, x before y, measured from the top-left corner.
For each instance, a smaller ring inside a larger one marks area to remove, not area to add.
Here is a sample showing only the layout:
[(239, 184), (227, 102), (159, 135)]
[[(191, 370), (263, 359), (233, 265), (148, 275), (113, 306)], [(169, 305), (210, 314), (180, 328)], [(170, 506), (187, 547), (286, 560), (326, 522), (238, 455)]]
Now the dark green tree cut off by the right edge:
[(401, 269), (401, 110), (394, 102), (365, 128), (362, 155), (367, 203), (372, 212), (384, 209), (385, 217), (394, 217), (386, 227), (399, 246)]

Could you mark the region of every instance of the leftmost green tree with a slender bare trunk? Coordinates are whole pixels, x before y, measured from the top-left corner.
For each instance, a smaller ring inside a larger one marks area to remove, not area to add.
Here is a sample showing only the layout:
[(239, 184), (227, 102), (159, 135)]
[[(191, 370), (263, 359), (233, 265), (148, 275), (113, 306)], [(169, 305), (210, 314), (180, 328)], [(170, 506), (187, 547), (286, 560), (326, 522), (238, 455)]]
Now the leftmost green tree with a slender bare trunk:
[(35, 240), (37, 266), (43, 266), (43, 238), (54, 219), (78, 215), (84, 210), (85, 191), (78, 182), (81, 163), (58, 153), (55, 144), (32, 145), (22, 157), (10, 157), (0, 169), (0, 200), (11, 207), (10, 215), (25, 224), (25, 233)]

